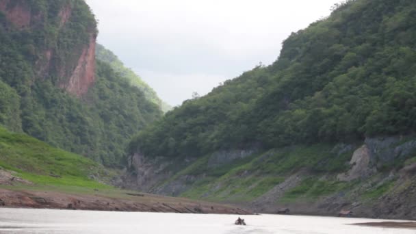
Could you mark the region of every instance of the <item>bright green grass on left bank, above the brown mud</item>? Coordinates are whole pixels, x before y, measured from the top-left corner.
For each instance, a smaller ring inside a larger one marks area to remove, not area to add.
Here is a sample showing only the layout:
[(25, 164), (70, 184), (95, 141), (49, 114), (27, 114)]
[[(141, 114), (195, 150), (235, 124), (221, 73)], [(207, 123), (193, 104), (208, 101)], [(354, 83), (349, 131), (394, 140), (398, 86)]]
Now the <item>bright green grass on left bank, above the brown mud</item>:
[(0, 127), (0, 167), (36, 185), (108, 188), (90, 177), (109, 177), (107, 170), (81, 155)]

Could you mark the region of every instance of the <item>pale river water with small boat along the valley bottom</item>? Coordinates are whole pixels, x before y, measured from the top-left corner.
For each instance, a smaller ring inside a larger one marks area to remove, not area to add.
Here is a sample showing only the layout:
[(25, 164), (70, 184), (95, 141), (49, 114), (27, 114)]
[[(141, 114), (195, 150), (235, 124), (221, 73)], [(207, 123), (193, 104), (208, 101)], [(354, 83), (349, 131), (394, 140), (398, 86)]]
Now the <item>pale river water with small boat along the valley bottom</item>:
[(285, 233), (416, 233), (408, 229), (353, 226), (381, 222), (355, 218), (309, 216), (242, 216), (247, 226), (235, 226), (238, 216), (175, 213), (123, 213), (48, 209), (0, 209), (0, 233), (46, 234), (285, 234)]

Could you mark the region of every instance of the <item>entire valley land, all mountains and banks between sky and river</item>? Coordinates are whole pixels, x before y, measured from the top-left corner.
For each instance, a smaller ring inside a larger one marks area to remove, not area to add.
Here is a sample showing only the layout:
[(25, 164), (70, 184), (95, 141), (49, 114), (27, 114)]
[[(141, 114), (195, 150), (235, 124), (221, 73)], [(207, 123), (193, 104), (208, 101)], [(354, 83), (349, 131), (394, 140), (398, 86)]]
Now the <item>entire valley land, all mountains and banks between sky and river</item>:
[(0, 205), (415, 220), (415, 12), (342, 1), (172, 108), (85, 1), (0, 0)]

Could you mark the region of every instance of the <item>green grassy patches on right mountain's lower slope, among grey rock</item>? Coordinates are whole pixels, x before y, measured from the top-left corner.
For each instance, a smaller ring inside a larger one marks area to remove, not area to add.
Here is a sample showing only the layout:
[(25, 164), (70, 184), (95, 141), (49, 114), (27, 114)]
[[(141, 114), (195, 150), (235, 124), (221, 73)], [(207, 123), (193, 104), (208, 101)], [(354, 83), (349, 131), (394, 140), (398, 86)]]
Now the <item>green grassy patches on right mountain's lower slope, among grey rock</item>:
[[(354, 196), (354, 199), (358, 194), (359, 200), (371, 202), (398, 185), (395, 183), (396, 178), (385, 179), (382, 171), (365, 180), (337, 181), (337, 174), (350, 169), (348, 162), (353, 151), (338, 154), (333, 148), (330, 144), (313, 144), (272, 149), (214, 169), (207, 167), (209, 156), (206, 156), (179, 172), (170, 181), (183, 175), (198, 178), (192, 182), (189, 190), (181, 194), (187, 198), (251, 203), (289, 177), (302, 172), (298, 176), (300, 181), (294, 187), (285, 189), (283, 196), (275, 199), (276, 204), (310, 203), (340, 193), (347, 198)], [(397, 169), (416, 161), (413, 156), (415, 155), (408, 155)]]

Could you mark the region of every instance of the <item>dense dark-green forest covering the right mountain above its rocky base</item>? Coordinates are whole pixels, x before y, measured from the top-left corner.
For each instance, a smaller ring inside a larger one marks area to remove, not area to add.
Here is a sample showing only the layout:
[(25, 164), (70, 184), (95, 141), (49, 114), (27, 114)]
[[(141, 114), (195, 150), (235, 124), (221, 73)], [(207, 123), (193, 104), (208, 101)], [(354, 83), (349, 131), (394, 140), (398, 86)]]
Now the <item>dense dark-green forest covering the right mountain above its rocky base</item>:
[(272, 65), (185, 101), (141, 131), (130, 151), (198, 157), (414, 133), (415, 36), (415, 1), (340, 3), (291, 34)]

